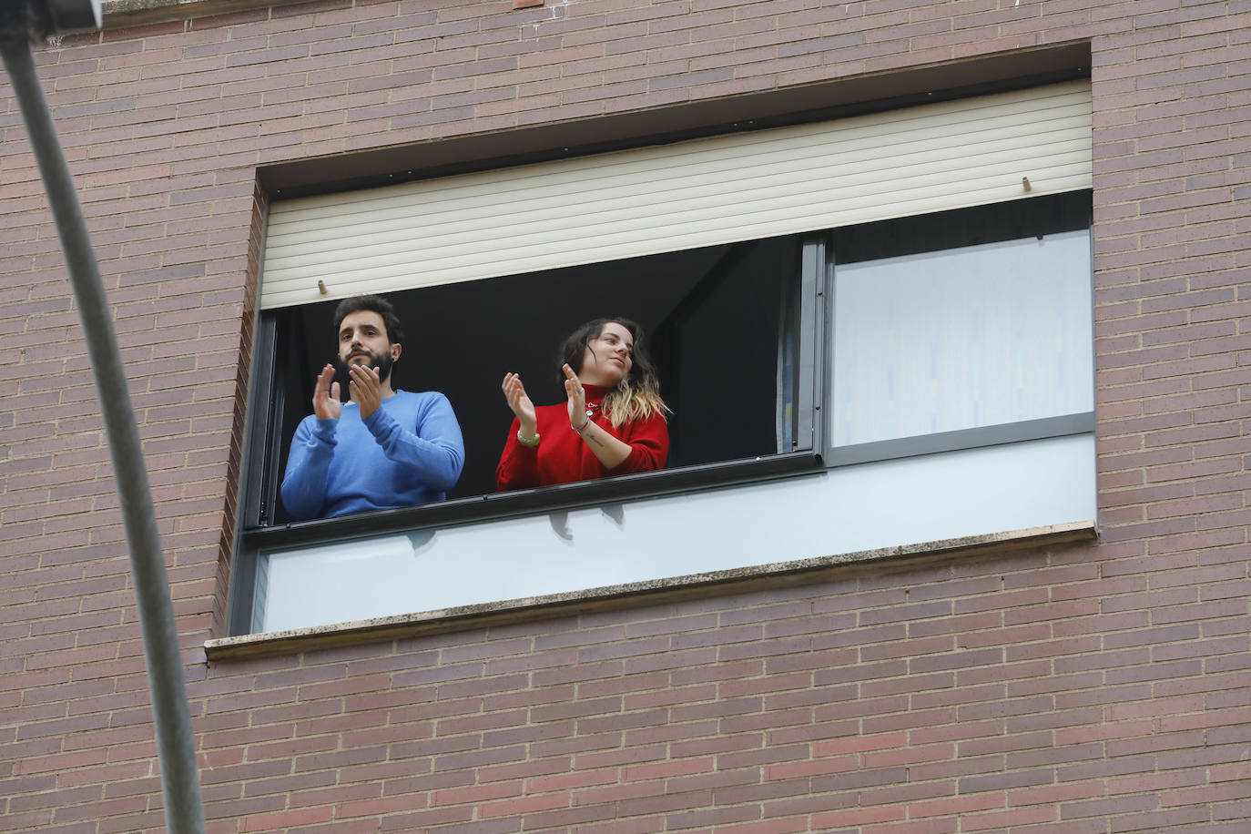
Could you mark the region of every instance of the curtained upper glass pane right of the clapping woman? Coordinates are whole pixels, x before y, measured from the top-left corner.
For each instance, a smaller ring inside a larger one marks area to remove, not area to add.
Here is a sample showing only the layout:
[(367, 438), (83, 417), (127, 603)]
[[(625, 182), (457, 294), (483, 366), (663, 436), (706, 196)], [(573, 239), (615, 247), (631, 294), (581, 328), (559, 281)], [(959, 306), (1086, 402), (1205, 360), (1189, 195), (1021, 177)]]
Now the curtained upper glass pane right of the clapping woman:
[(1083, 229), (839, 265), (833, 445), (1093, 409)]

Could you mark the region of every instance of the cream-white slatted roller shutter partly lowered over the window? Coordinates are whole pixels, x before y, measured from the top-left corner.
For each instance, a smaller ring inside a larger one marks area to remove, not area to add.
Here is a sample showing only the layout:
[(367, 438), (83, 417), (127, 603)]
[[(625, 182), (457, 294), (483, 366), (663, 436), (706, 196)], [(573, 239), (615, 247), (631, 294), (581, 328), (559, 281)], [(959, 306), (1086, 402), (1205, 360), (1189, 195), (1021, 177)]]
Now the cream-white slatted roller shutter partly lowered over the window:
[(1013, 200), (1022, 178), (1091, 188), (1087, 81), (275, 201), (261, 306)]

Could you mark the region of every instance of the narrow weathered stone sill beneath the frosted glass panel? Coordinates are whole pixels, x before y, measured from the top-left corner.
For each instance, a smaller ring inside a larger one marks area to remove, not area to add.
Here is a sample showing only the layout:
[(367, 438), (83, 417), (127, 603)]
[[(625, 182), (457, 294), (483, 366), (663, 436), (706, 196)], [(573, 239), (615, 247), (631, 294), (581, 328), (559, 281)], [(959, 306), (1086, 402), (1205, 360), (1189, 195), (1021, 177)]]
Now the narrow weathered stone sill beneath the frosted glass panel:
[(362, 645), (427, 634), (508, 625), (525, 620), (569, 616), (585, 611), (679, 601), (706, 596), (711, 593), (728, 594), (816, 583), (822, 581), (827, 574), (844, 565), (882, 559), (955, 555), (992, 548), (1028, 548), (1043, 544), (1091, 541), (1096, 536), (1097, 528), (1093, 520), (1073, 521), (1025, 530), (842, 553), (816, 559), (779, 561), (744, 569), (592, 588), (567, 594), (510, 599), (285, 631), (246, 634), (208, 640), (204, 644), (204, 650), (210, 661), (296, 654), (343, 645)]

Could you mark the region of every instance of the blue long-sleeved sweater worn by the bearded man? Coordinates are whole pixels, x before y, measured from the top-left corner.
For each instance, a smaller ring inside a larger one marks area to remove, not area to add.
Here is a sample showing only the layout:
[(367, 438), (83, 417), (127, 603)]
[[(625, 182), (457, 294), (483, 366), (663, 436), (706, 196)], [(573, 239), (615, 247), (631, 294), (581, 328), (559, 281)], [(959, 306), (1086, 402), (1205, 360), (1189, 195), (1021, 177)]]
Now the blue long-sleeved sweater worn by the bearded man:
[(368, 420), (304, 418), (283, 478), (283, 504), (305, 519), (442, 501), (464, 466), (460, 424), (437, 391), (395, 391)]

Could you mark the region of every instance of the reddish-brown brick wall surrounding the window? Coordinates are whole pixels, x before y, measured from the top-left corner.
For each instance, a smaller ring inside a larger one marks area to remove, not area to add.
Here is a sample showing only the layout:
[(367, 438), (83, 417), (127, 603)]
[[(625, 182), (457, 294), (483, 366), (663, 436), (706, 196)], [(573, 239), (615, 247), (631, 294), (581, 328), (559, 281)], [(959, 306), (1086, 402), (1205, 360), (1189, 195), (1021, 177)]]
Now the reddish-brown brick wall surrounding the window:
[[(510, 5), (330, 0), (38, 54), (116, 309), (210, 829), (1245, 831), (1251, 3)], [(205, 663), (258, 165), (1082, 40), (1100, 544)], [(95, 396), (0, 78), (4, 830), (163, 824)]]

